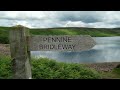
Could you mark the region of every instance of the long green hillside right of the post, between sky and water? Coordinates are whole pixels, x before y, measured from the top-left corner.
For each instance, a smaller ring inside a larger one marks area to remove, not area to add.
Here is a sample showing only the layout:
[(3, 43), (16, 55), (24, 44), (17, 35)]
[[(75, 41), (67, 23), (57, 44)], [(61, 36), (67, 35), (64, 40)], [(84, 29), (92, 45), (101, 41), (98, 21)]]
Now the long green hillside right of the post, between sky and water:
[(91, 35), (92, 37), (101, 36), (120, 36), (120, 29), (97, 29), (97, 28), (48, 28), (30, 29), (34, 35)]

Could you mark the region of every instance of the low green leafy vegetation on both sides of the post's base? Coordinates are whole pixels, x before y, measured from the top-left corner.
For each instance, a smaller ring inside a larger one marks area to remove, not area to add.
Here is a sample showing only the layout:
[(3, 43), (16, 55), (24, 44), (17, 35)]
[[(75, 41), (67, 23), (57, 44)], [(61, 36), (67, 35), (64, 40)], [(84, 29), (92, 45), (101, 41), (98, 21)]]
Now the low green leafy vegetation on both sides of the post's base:
[[(99, 73), (81, 64), (67, 64), (47, 58), (32, 59), (33, 79), (99, 79)], [(0, 56), (0, 79), (12, 79), (8, 56)]]

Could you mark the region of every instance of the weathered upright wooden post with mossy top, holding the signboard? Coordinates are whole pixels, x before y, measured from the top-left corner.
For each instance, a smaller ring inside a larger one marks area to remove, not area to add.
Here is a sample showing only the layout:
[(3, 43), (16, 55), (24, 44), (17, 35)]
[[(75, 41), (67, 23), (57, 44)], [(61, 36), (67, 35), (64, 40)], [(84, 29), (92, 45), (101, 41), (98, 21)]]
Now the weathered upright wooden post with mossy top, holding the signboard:
[(27, 36), (29, 30), (16, 26), (10, 30), (10, 51), (13, 64), (14, 79), (31, 79), (30, 51), (28, 51)]

